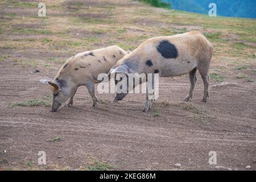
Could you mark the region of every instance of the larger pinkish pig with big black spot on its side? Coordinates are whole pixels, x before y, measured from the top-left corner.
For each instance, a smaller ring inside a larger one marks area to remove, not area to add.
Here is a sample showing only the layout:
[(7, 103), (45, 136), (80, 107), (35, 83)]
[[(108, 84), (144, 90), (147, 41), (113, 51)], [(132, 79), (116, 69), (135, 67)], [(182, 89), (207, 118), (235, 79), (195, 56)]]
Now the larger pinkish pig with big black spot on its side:
[[(184, 98), (184, 101), (188, 102), (192, 98), (198, 69), (204, 82), (203, 102), (207, 102), (212, 53), (212, 44), (199, 31), (159, 36), (146, 40), (129, 55), (124, 56), (113, 66), (112, 72), (115, 72), (115, 76), (121, 73), (127, 76), (129, 73), (158, 73), (159, 77), (174, 77), (188, 73), (190, 88)], [(126, 93), (117, 93), (114, 101), (122, 100), (128, 92), (127, 89)], [(146, 94), (143, 108), (145, 112), (150, 110), (152, 105), (152, 100), (148, 99), (147, 92)]]

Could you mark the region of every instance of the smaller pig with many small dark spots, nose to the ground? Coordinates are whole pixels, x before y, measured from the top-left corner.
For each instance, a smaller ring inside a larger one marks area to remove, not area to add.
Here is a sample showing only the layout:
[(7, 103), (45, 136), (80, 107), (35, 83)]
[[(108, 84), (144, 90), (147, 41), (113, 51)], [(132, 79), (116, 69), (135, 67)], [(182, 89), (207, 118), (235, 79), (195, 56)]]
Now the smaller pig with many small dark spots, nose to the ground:
[(67, 106), (73, 105), (73, 97), (79, 86), (85, 85), (92, 96), (93, 106), (98, 104), (94, 92), (94, 83), (98, 74), (108, 73), (119, 59), (127, 55), (127, 52), (118, 46), (96, 49), (78, 53), (70, 57), (60, 68), (52, 81), (40, 80), (48, 84), (52, 92), (52, 103), (50, 111), (57, 111), (68, 99)]

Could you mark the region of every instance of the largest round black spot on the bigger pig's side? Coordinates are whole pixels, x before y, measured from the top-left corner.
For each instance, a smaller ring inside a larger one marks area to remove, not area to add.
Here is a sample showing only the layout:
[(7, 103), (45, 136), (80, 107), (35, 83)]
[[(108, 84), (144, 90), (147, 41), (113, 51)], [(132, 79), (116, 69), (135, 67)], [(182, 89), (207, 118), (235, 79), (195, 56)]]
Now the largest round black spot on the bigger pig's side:
[(156, 49), (164, 58), (175, 59), (178, 56), (177, 48), (168, 40), (162, 40)]

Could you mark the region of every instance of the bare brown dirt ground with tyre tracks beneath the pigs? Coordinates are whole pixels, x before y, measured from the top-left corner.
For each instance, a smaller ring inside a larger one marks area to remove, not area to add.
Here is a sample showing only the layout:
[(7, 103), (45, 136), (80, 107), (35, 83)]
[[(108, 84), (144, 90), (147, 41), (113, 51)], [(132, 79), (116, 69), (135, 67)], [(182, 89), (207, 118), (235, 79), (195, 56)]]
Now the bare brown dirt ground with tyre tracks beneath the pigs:
[[(76, 35), (72, 33), (70, 36)], [(2, 35), (2, 40), (24, 36)], [(96, 93), (100, 104), (94, 108), (84, 86), (77, 91), (72, 107), (52, 113), (47, 104), (15, 103), (33, 98), (48, 103), (50, 90), (39, 79), (53, 78), (62, 63), (47, 68), (44, 62), (35, 67), (19, 61), (67, 59), (72, 53), (51, 48), (41, 51), (34, 46), (1, 47), (0, 52), (10, 55), (0, 62), (0, 169), (256, 169), (256, 82), (251, 71), (245, 71), (250, 82), (237, 79), (234, 69), (225, 71), (225, 81), (237, 84), (213, 86), (220, 82), (211, 78), (207, 103), (201, 102), (203, 81), (199, 75), (192, 102), (182, 102), (189, 88), (188, 76), (183, 75), (160, 78), (159, 99), (148, 113), (142, 112), (144, 94), (130, 94), (114, 103), (114, 94)], [(217, 52), (212, 70), (218, 61)], [(56, 137), (61, 139), (49, 141)], [(46, 165), (38, 165), (39, 151), (46, 152)], [(209, 164), (210, 151), (216, 152), (217, 164)], [(176, 163), (181, 167), (176, 168)]]

